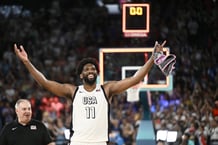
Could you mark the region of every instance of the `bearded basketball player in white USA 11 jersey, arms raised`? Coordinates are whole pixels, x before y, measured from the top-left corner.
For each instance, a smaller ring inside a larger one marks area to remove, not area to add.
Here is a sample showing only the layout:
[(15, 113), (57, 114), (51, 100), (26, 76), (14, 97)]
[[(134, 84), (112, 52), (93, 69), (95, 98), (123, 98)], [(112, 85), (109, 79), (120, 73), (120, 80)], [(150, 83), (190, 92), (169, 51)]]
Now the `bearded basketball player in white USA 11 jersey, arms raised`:
[[(155, 42), (154, 51), (162, 51), (165, 43), (166, 41), (160, 45)], [(57, 96), (72, 99), (71, 129), (73, 133), (70, 145), (106, 145), (109, 138), (109, 103), (112, 97), (138, 84), (154, 64), (154, 56), (152, 55), (134, 76), (100, 85), (96, 84), (99, 72), (98, 63), (93, 58), (85, 58), (77, 68), (83, 85), (75, 86), (47, 79), (30, 62), (22, 45), (17, 47), (14, 44), (14, 50), (39, 85)]]

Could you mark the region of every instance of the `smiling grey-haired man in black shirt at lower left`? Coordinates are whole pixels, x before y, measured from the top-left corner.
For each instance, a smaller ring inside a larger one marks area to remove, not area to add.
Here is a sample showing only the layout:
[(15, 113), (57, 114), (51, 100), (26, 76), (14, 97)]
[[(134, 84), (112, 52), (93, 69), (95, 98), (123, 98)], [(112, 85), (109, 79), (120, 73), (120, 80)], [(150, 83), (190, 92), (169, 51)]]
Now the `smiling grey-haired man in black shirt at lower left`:
[(31, 104), (19, 99), (15, 104), (17, 119), (0, 133), (0, 145), (55, 145), (46, 126), (32, 119)]

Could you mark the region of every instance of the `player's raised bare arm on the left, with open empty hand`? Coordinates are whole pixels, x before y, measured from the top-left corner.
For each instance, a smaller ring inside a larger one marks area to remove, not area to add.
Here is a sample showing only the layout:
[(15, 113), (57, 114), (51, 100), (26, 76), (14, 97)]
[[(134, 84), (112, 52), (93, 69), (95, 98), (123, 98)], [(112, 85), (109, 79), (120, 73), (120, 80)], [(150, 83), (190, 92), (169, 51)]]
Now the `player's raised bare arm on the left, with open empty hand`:
[(39, 70), (37, 70), (36, 67), (28, 59), (28, 55), (22, 45), (20, 47), (17, 47), (17, 45), (14, 44), (14, 51), (40, 86), (60, 97), (70, 97), (73, 94), (75, 86), (70, 84), (61, 84), (56, 81), (48, 80)]

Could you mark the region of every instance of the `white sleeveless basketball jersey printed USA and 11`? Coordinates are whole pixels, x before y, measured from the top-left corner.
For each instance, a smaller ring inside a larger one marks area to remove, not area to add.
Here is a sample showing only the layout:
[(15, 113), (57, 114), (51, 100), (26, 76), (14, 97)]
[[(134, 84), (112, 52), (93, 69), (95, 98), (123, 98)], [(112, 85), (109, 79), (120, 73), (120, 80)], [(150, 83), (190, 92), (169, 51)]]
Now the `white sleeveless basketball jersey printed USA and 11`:
[(109, 103), (101, 85), (88, 92), (81, 85), (73, 98), (71, 141), (108, 141)]

